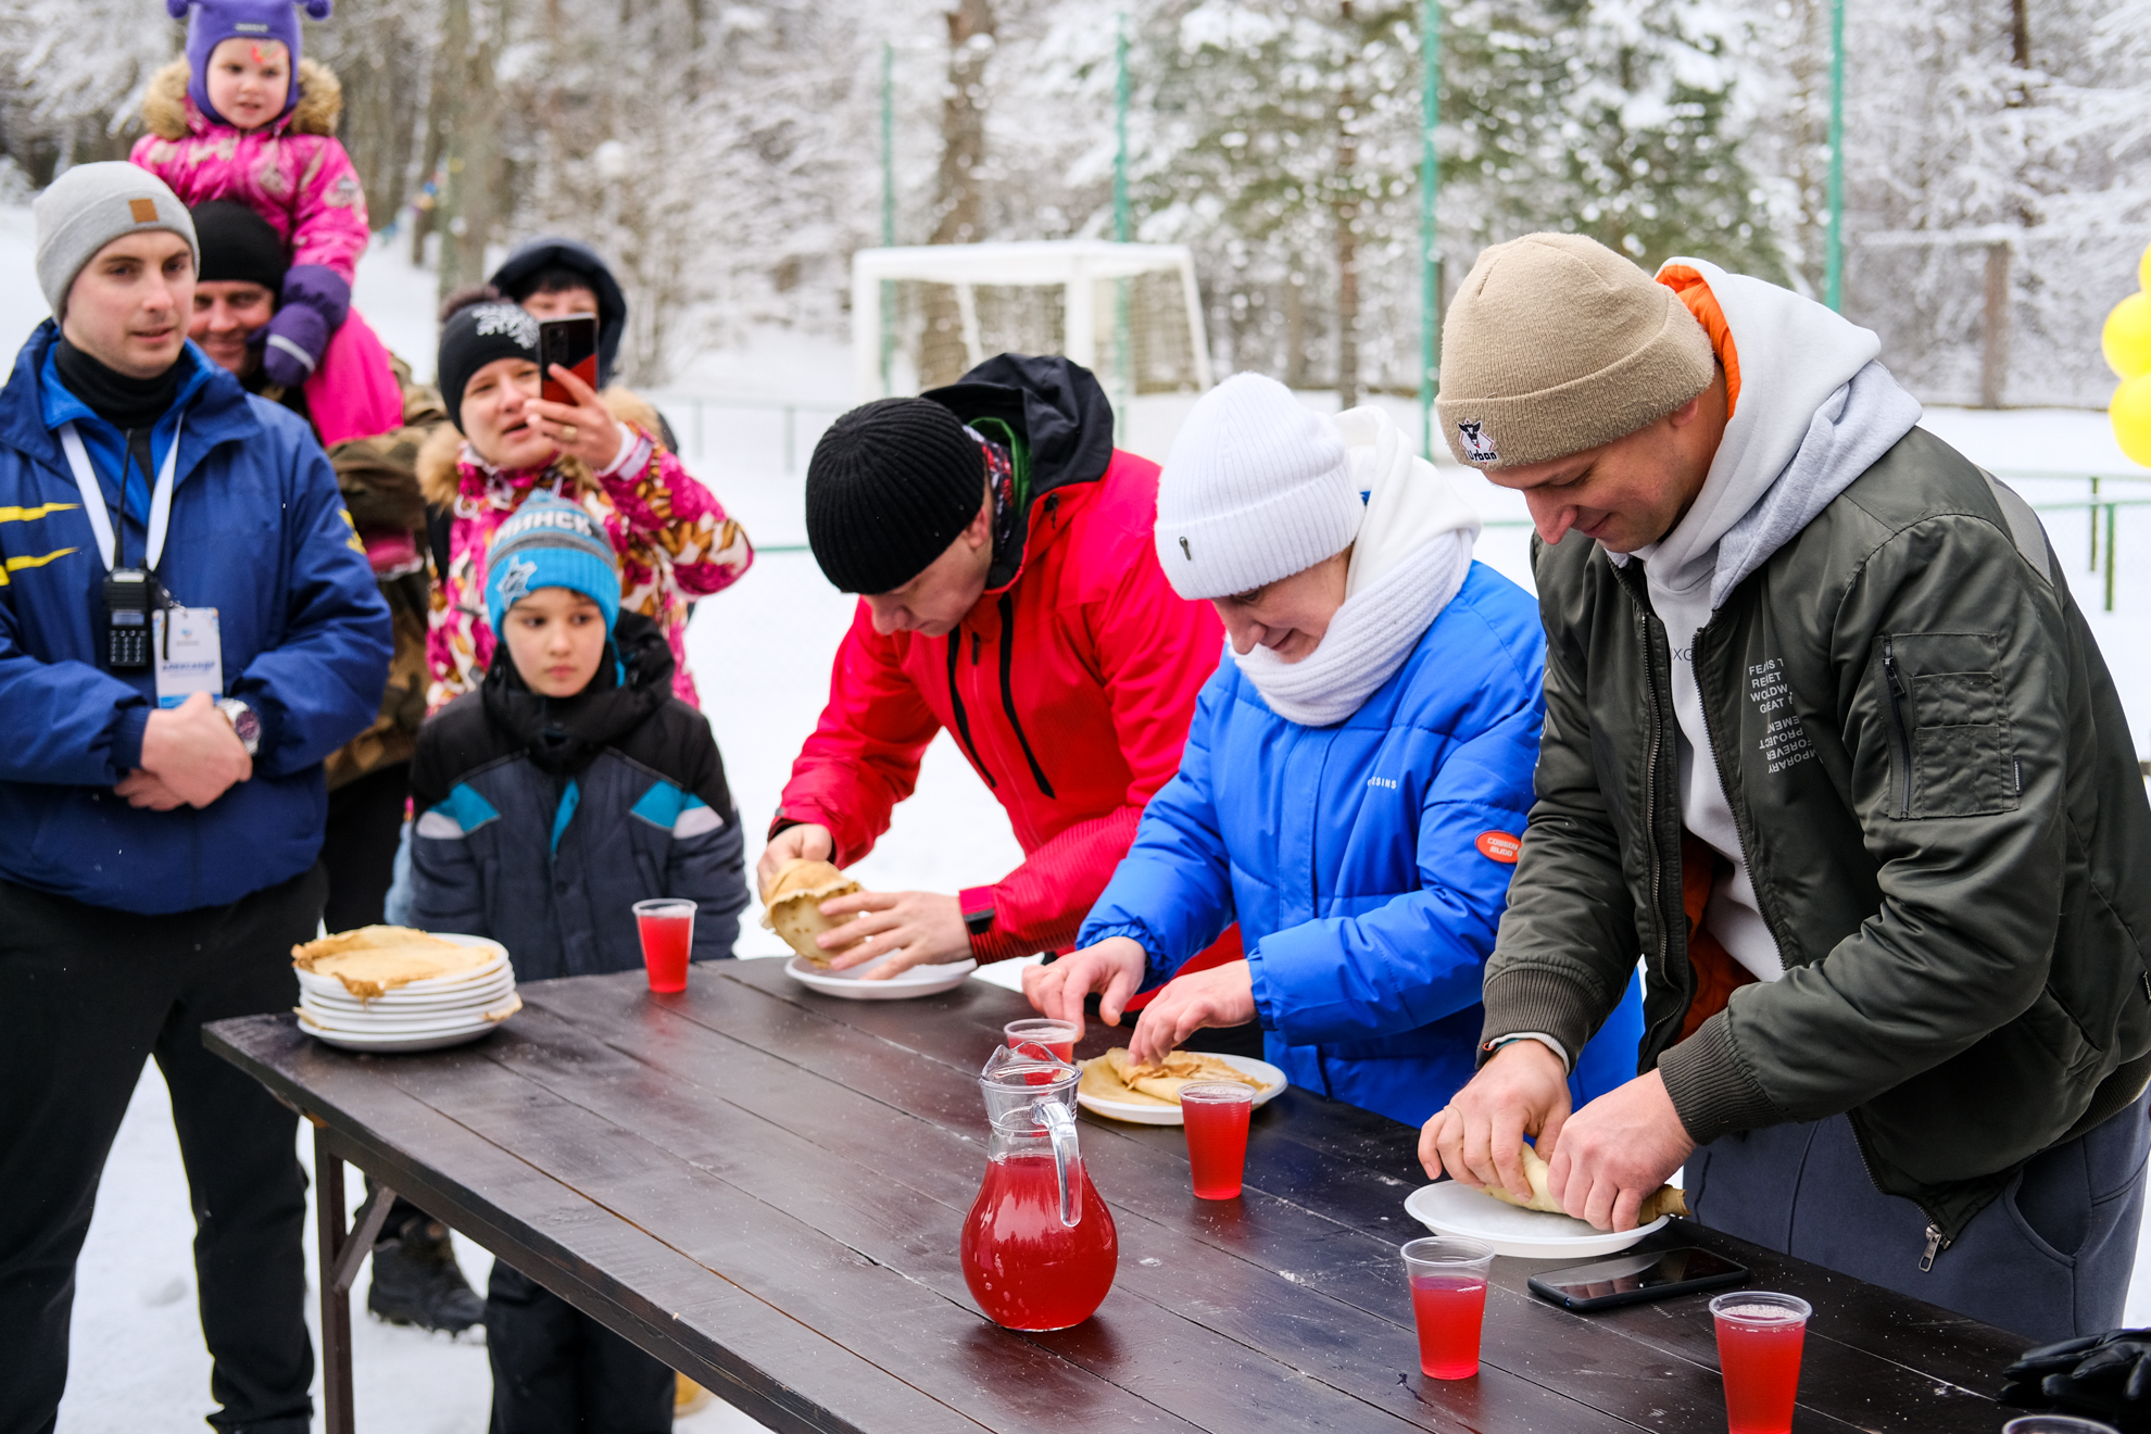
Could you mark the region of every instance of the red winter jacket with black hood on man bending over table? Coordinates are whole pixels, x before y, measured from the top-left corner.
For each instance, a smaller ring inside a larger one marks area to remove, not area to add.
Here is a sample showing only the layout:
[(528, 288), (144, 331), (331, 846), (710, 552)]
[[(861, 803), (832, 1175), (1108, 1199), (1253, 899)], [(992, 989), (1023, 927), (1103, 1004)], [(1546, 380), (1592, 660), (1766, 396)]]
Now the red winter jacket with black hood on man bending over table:
[(946, 727), (1024, 847), (1022, 866), (961, 894), (966, 914), (994, 909), (972, 952), (1065, 950), (1181, 765), (1224, 630), (1166, 585), (1151, 540), (1157, 464), (1112, 447), (1112, 411), (1086, 370), (1002, 355), (927, 398), (966, 421), (1022, 424), (1020, 568), (949, 636), (880, 636), (858, 604), (772, 832), (811, 821), (835, 836), (839, 866), (867, 856)]

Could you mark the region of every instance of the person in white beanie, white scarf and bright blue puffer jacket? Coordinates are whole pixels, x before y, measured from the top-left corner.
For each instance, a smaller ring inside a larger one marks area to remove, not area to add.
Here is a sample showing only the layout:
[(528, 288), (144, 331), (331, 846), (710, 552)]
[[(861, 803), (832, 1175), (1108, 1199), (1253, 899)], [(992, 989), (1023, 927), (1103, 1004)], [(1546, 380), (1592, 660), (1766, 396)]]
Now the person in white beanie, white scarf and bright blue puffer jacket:
[[(1172, 980), (1138, 1060), (1258, 1019), (1293, 1084), (1422, 1124), (1471, 1077), (1542, 718), (1538, 606), (1471, 559), (1480, 520), (1379, 408), (1325, 419), (1241, 374), (1190, 413), (1157, 555), (1233, 651), (1179, 774), (1084, 922), (1026, 972), (1045, 1015), (1119, 1023), (1239, 922), (1248, 957)], [(1635, 1077), (1628, 998), (1570, 1062), (1577, 1105)]]

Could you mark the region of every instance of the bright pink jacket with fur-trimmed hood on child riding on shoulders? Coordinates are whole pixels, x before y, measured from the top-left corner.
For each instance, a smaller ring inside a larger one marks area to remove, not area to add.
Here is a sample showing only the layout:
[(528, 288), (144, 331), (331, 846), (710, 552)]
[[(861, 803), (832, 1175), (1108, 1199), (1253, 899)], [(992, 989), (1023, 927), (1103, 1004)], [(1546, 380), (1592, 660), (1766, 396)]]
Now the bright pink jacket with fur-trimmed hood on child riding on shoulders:
[(370, 230), (359, 172), (336, 140), (342, 107), (329, 67), (299, 60), (297, 107), (275, 125), (239, 131), (194, 107), (187, 62), (172, 60), (142, 99), (148, 133), (129, 159), (172, 185), (181, 204), (245, 204), (275, 228), (293, 264), (320, 264), (351, 284)]

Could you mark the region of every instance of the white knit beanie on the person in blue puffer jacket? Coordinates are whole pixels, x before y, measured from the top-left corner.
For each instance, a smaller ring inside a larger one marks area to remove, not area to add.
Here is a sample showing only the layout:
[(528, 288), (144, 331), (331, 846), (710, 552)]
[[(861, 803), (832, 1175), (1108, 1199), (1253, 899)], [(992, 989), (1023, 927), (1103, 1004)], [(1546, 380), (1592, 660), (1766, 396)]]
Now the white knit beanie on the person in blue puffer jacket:
[(1364, 512), (1336, 424), (1276, 378), (1235, 374), (1166, 456), (1157, 565), (1181, 598), (1254, 591), (1349, 548)]

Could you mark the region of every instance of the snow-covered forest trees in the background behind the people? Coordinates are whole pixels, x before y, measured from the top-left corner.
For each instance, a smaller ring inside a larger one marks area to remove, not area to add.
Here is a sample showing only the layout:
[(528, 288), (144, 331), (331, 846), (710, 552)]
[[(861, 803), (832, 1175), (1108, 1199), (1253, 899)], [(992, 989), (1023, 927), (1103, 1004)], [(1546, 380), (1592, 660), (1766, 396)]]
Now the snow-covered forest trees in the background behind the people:
[[(1536, 228), (1822, 290), (1828, 0), (1445, 9), (1443, 299)], [(346, 0), (305, 45), (376, 228), (443, 288), (594, 241), (626, 376), (663, 383), (757, 325), (845, 331), (884, 45), (897, 243), (1110, 239), (1123, 15), (1134, 236), (1194, 247), (1220, 372), (1415, 391), (1418, 0)], [(1863, 0), (1846, 30), (1846, 312), (1927, 402), (2104, 406), (2151, 0)], [(155, 0), (0, 0), (0, 185), (125, 157), (181, 37)]]

